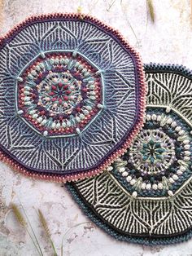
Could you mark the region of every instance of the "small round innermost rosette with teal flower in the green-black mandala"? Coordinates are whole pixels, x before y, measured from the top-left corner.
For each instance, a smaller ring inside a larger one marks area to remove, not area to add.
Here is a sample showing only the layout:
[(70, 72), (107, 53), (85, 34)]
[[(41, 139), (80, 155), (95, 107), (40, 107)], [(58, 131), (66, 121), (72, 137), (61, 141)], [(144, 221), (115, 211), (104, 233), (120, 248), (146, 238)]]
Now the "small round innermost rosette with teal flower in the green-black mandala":
[(142, 130), (129, 155), (130, 162), (142, 174), (160, 174), (175, 160), (174, 141), (162, 130)]

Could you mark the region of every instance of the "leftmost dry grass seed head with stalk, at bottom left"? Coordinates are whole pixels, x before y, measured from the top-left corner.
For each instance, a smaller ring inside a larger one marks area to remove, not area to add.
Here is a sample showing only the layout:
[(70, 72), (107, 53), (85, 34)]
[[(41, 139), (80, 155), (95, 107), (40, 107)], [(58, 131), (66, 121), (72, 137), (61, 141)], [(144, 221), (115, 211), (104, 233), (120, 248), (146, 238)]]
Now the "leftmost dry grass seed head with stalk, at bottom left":
[(13, 213), (14, 213), (15, 218), (17, 219), (18, 223), (20, 223), (20, 226), (23, 227), (26, 232), (28, 232), (28, 236), (30, 236), (31, 240), (33, 241), (33, 245), (37, 249), (38, 254), (43, 256), (42, 252), (39, 251), (39, 249), (37, 248), (37, 245), (36, 245), (35, 241), (33, 240), (33, 236), (28, 231), (27, 223), (24, 219), (23, 214), (20, 212), (20, 209), (15, 204), (11, 204), (11, 209), (13, 210)]

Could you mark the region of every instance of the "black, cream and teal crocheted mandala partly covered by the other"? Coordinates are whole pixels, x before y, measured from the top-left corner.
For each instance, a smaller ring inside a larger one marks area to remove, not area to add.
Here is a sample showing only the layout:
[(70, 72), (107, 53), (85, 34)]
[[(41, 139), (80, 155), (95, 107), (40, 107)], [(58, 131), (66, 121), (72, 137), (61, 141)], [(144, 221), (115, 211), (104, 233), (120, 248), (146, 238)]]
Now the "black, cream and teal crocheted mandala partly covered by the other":
[(185, 241), (192, 234), (192, 72), (146, 65), (145, 124), (106, 172), (68, 184), (85, 214), (120, 241)]

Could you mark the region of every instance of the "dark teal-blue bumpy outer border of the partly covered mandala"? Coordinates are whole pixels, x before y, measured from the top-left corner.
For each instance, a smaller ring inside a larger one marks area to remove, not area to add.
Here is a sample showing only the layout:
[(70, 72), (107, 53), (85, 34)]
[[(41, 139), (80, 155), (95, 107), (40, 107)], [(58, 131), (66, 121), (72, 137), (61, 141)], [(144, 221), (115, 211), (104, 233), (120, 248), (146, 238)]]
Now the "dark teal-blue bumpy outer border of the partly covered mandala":
[[(182, 65), (175, 65), (175, 64), (144, 64), (145, 72), (146, 73), (178, 73), (185, 77), (189, 77), (192, 79), (192, 70), (185, 68)], [(71, 183), (67, 183), (66, 187), (68, 191), (71, 192), (72, 198), (76, 201), (76, 203), (80, 206), (81, 210), (85, 213), (85, 215), (90, 218), (98, 227), (102, 228), (108, 235), (115, 237), (118, 241), (126, 241), (133, 244), (140, 244), (140, 245), (173, 245), (176, 243), (181, 243), (188, 241), (192, 238), (192, 228), (186, 231), (183, 234), (177, 236), (166, 236), (166, 237), (138, 237), (138, 236), (129, 236), (120, 233), (115, 228), (110, 227), (99, 218), (96, 214), (94, 214), (93, 210), (90, 209), (90, 205), (85, 203), (83, 197), (80, 193), (77, 192), (75, 186)]]

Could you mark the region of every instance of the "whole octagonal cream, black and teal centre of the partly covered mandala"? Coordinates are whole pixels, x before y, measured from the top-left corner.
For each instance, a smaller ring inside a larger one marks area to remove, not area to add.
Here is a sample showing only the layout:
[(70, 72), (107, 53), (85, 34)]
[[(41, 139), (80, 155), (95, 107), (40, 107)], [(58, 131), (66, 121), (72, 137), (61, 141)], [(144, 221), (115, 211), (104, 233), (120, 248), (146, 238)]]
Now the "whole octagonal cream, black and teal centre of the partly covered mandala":
[(114, 164), (116, 179), (133, 195), (173, 195), (190, 176), (190, 127), (175, 113), (149, 108), (143, 129)]

